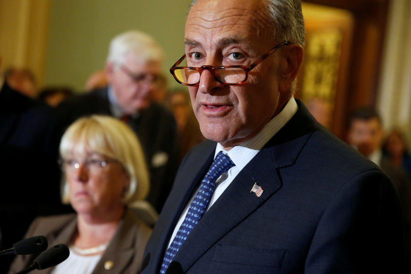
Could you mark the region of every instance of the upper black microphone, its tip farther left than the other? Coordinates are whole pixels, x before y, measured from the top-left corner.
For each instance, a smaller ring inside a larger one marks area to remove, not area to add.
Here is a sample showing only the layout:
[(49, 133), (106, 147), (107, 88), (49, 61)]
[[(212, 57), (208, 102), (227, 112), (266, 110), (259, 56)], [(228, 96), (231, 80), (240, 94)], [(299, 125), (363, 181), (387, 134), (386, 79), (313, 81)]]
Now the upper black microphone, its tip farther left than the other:
[(43, 252), (47, 249), (48, 243), (45, 236), (33, 236), (17, 242), (12, 248), (0, 251), (0, 255), (16, 254), (27, 255), (38, 252)]

